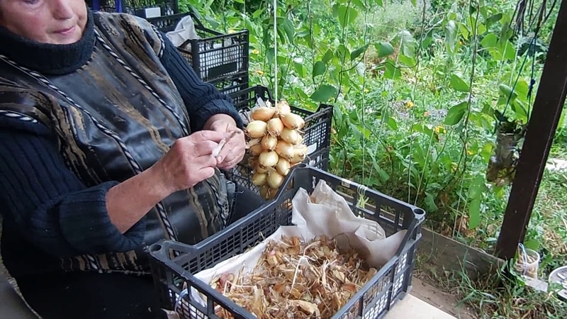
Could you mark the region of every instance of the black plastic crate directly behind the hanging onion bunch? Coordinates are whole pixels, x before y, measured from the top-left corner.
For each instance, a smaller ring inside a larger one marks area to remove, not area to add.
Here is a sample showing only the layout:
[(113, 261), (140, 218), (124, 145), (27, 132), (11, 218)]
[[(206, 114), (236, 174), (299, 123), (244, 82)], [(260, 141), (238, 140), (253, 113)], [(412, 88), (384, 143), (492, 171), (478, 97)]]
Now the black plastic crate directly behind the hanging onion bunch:
[[(264, 101), (274, 103), (274, 98), (268, 88), (265, 86), (253, 86), (237, 93), (230, 94), (232, 101), (242, 118), (248, 117), (249, 111), (254, 108), (258, 98)], [(305, 158), (305, 163), (313, 167), (318, 167), (327, 170), (329, 167), (329, 152), (330, 152), (330, 136), (332, 125), (332, 111), (333, 107), (327, 104), (321, 104), (317, 111), (307, 111), (302, 108), (291, 106), (291, 111), (305, 119), (305, 127), (302, 129), (305, 135), (303, 136), (303, 144), (307, 145), (308, 156)], [(238, 184), (252, 189), (252, 191), (259, 194), (259, 186), (252, 184), (252, 167), (248, 164), (248, 154), (237, 166), (226, 175), (228, 179), (236, 181)]]

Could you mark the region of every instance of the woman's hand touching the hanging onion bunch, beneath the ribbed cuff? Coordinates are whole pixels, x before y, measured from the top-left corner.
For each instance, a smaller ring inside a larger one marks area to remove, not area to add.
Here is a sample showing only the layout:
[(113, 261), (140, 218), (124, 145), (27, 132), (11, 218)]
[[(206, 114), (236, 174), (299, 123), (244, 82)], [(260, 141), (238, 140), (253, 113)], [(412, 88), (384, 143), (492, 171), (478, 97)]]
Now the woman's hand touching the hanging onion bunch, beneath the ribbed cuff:
[(245, 135), (240, 128), (237, 128), (231, 116), (226, 114), (212, 116), (208, 119), (204, 129), (225, 133), (225, 143), (216, 156), (218, 168), (231, 169), (242, 161), (246, 152)]

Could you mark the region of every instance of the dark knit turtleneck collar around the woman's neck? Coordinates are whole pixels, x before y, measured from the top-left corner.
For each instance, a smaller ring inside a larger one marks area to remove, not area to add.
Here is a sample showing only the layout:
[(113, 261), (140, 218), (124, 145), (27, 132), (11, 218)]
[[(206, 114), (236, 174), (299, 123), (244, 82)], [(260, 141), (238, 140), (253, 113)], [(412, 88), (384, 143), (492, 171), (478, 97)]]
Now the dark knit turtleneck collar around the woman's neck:
[(52, 45), (23, 38), (0, 27), (0, 54), (23, 67), (46, 75), (69, 74), (91, 58), (94, 50), (94, 18), (90, 9), (81, 40)]

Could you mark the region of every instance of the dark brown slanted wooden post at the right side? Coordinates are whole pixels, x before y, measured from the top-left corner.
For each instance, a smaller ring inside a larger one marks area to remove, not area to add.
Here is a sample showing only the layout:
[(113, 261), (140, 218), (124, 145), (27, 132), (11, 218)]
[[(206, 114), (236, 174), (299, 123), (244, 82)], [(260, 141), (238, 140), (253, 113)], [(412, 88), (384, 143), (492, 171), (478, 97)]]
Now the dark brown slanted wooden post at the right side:
[(524, 240), (529, 218), (539, 191), (549, 150), (565, 103), (567, 92), (567, 1), (561, 7), (554, 28), (544, 71), (529, 118), (522, 154), (508, 199), (495, 254), (512, 259)]

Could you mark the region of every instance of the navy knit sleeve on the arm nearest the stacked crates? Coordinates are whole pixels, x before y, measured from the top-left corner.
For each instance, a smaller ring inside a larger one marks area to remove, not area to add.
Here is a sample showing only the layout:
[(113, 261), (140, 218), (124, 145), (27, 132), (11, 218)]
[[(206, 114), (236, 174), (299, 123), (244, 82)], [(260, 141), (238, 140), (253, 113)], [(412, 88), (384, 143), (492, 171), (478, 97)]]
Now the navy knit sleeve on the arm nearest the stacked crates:
[(189, 62), (163, 33), (162, 38), (164, 41), (162, 64), (172, 77), (185, 103), (191, 119), (191, 130), (201, 130), (210, 116), (219, 113), (232, 116), (237, 126), (242, 128), (242, 118), (238, 115), (230, 96), (220, 93), (213, 84), (199, 79)]

